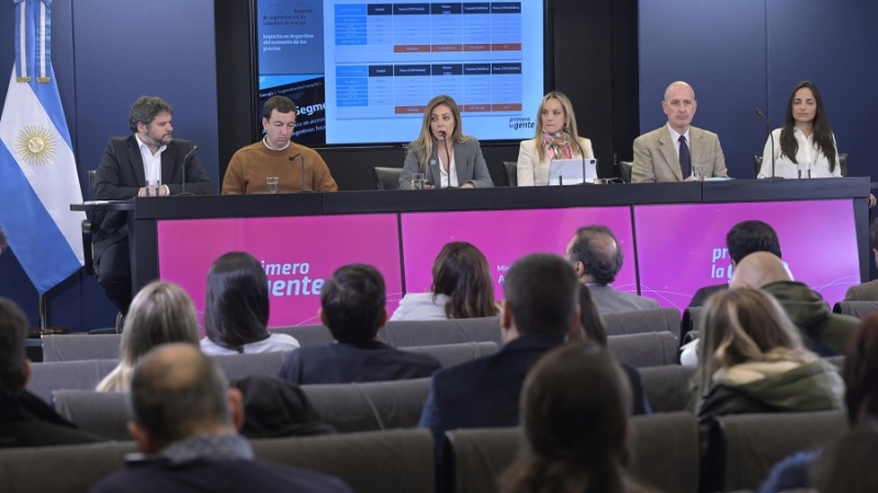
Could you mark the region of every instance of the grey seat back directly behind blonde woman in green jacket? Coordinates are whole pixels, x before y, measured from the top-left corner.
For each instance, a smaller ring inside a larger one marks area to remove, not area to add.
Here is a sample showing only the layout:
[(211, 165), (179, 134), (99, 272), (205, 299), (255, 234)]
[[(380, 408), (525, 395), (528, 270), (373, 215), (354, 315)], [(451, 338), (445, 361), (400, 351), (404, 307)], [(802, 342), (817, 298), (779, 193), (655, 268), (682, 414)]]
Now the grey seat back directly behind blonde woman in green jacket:
[(702, 491), (756, 490), (783, 458), (823, 447), (845, 431), (840, 411), (720, 416), (707, 437)]

